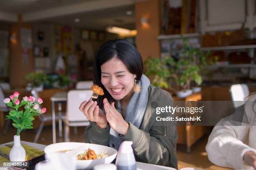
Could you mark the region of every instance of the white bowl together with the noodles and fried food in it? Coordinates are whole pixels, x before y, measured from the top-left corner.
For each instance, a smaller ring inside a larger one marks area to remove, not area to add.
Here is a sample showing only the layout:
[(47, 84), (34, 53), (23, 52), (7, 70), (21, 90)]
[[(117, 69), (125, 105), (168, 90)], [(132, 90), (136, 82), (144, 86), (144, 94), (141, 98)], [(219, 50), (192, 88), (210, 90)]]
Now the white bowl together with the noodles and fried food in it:
[(77, 169), (92, 169), (98, 164), (111, 163), (116, 155), (117, 150), (91, 143), (63, 142), (54, 143), (44, 148), (45, 154), (66, 153), (77, 158)]

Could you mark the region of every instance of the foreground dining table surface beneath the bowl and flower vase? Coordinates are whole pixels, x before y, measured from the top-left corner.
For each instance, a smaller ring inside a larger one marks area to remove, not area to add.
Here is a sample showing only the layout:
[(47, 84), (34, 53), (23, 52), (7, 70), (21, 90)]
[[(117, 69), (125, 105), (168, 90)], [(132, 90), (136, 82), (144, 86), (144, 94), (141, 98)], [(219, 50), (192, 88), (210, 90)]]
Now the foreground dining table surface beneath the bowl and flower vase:
[[(42, 151), (47, 146), (47, 145), (42, 145), (42, 144), (38, 144), (38, 143), (26, 142), (26, 141), (23, 141), (23, 140), (21, 140), (20, 143), (21, 144), (26, 144), (30, 147), (33, 147), (37, 150), (42, 150)], [(13, 142), (0, 144), (0, 147), (3, 146), (3, 145), (10, 145), (10, 144), (13, 144)], [(136, 167), (137, 167), (137, 170), (176, 170), (176, 169), (170, 168), (170, 167), (165, 167), (165, 166), (160, 166), (160, 165), (153, 165), (153, 164), (149, 164), (149, 163), (141, 163), (141, 162), (136, 162)], [(0, 170), (15, 170), (15, 169), (13, 169), (12, 167), (0, 167)]]

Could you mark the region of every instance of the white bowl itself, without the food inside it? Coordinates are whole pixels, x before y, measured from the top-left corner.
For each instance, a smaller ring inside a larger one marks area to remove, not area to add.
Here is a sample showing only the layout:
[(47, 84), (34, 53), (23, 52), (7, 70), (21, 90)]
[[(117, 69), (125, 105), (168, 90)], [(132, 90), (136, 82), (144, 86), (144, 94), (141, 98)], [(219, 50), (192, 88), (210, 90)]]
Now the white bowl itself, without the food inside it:
[(92, 169), (95, 165), (98, 165), (98, 164), (111, 163), (115, 159), (118, 153), (117, 150), (107, 146), (96, 145), (91, 143), (77, 143), (77, 142), (54, 143), (46, 146), (44, 148), (44, 153), (51, 154), (51, 153), (59, 152), (61, 150), (71, 150), (77, 146), (85, 146), (86, 148), (90, 148), (94, 150), (96, 154), (99, 154), (103, 151), (105, 155), (108, 155), (108, 157), (98, 159), (98, 160), (77, 160), (78, 170)]

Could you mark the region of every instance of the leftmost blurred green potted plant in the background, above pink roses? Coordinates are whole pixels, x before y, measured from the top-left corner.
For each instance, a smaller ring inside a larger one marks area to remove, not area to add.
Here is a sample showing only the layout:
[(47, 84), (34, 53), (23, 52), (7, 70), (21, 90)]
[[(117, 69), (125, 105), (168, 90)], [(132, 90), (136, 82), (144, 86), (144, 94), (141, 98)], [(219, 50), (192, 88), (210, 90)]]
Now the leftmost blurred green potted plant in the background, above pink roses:
[(43, 84), (47, 82), (46, 74), (43, 72), (30, 72), (28, 75), (26, 75), (25, 79), (28, 80), (28, 91), (31, 91), (32, 89), (36, 91), (42, 91), (44, 89)]

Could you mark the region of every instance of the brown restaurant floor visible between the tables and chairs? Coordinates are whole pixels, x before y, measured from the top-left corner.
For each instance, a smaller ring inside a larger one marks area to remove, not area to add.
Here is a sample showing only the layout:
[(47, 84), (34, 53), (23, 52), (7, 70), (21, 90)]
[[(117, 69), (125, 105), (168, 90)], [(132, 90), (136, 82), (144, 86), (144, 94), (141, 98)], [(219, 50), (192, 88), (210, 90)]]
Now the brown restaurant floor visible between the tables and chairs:
[[(57, 128), (58, 126), (56, 126)], [(84, 127), (78, 127), (77, 135), (74, 135), (74, 128), (70, 128), (70, 142), (84, 142)], [(13, 141), (13, 135), (16, 134), (16, 129), (9, 127), (7, 135), (3, 135), (3, 129), (0, 129), (0, 144)], [(63, 142), (64, 138), (58, 138), (58, 132), (56, 136), (57, 142)], [(21, 132), (20, 140), (33, 142), (36, 133), (35, 130), (26, 130)], [(208, 136), (205, 135), (191, 148), (191, 153), (186, 153), (186, 147), (184, 145), (177, 145), (177, 159), (179, 168), (196, 167), (205, 170), (227, 170), (228, 168), (221, 168), (210, 163), (205, 152), (205, 145), (207, 143)], [(41, 136), (38, 139), (38, 143), (49, 145), (52, 143), (51, 126), (44, 127)]]

